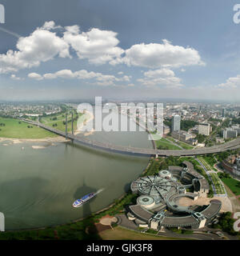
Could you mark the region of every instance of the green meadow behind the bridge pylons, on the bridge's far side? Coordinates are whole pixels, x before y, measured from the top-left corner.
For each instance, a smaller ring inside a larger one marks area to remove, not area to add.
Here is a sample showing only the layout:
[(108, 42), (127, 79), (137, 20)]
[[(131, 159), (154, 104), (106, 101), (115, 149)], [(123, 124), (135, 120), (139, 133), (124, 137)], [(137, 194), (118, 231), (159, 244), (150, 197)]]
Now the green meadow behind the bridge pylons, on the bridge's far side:
[[(67, 130), (68, 132), (71, 131), (71, 114), (68, 114), (67, 119), (68, 119), (68, 124), (67, 124)], [(78, 118), (78, 114), (74, 113), (74, 119)], [(41, 118), (40, 122), (42, 122), (43, 124), (45, 124), (46, 126), (52, 126), (54, 124), (57, 124), (57, 126), (55, 126), (54, 128), (57, 130), (62, 130), (65, 131), (65, 124), (63, 122), (65, 122), (65, 114), (54, 114), (48, 117), (44, 117)], [(77, 120), (74, 120), (74, 130), (77, 129)]]

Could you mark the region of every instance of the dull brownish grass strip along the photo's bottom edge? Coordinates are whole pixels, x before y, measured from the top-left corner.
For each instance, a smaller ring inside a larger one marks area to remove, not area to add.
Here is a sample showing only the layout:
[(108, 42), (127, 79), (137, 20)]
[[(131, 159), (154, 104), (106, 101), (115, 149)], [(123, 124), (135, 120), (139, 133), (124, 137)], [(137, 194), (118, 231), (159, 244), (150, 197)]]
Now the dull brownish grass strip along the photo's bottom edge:
[(100, 233), (100, 236), (103, 240), (179, 240), (178, 238), (164, 238), (152, 234), (142, 234), (126, 230), (120, 226), (115, 227), (114, 230), (103, 231)]

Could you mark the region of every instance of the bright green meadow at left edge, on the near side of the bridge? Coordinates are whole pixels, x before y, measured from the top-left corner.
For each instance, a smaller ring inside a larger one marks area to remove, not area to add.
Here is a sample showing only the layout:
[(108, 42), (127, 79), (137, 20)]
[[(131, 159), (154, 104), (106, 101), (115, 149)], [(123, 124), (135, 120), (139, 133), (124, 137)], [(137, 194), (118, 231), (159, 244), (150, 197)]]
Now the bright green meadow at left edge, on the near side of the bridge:
[[(26, 122), (20, 122), (14, 118), (0, 118), (1, 123), (5, 124), (5, 126), (0, 125), (0, 137), (2, 138), (38, 139), (56, 136), (47, 130), (43, 130), (37, 126), (30, 126)], [(28, 128), (28, 126), (32, 128)]]

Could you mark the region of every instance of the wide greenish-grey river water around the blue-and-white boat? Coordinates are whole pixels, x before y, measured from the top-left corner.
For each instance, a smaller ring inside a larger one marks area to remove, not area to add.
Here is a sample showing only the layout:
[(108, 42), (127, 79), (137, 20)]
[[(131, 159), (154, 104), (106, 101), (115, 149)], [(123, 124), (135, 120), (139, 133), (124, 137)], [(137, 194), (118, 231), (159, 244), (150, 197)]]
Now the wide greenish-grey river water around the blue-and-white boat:
[[(98, 132), (88, 138), (152, 148), (148, 134), (139, 131)], [(1, 142), (0, 212), (5, 214), (6, 230), (62, 224), (101, 210), (128, 190), (148, 161), (70, 142)], [(72, 206), (75, 199), (100, 189), (104, 190), (84, 206)]]

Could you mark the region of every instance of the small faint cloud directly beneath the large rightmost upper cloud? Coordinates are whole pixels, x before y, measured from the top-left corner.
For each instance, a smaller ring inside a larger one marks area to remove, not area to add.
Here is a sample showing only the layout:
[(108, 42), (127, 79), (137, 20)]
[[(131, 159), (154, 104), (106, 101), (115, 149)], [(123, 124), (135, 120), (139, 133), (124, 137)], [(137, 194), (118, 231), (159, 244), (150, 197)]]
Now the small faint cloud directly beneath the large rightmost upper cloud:
[(144, 86), (182, 87), (181, 78), (175, 77), (174, 71), (166, 68), (144, 72), (144, 78), (138, 79)]

